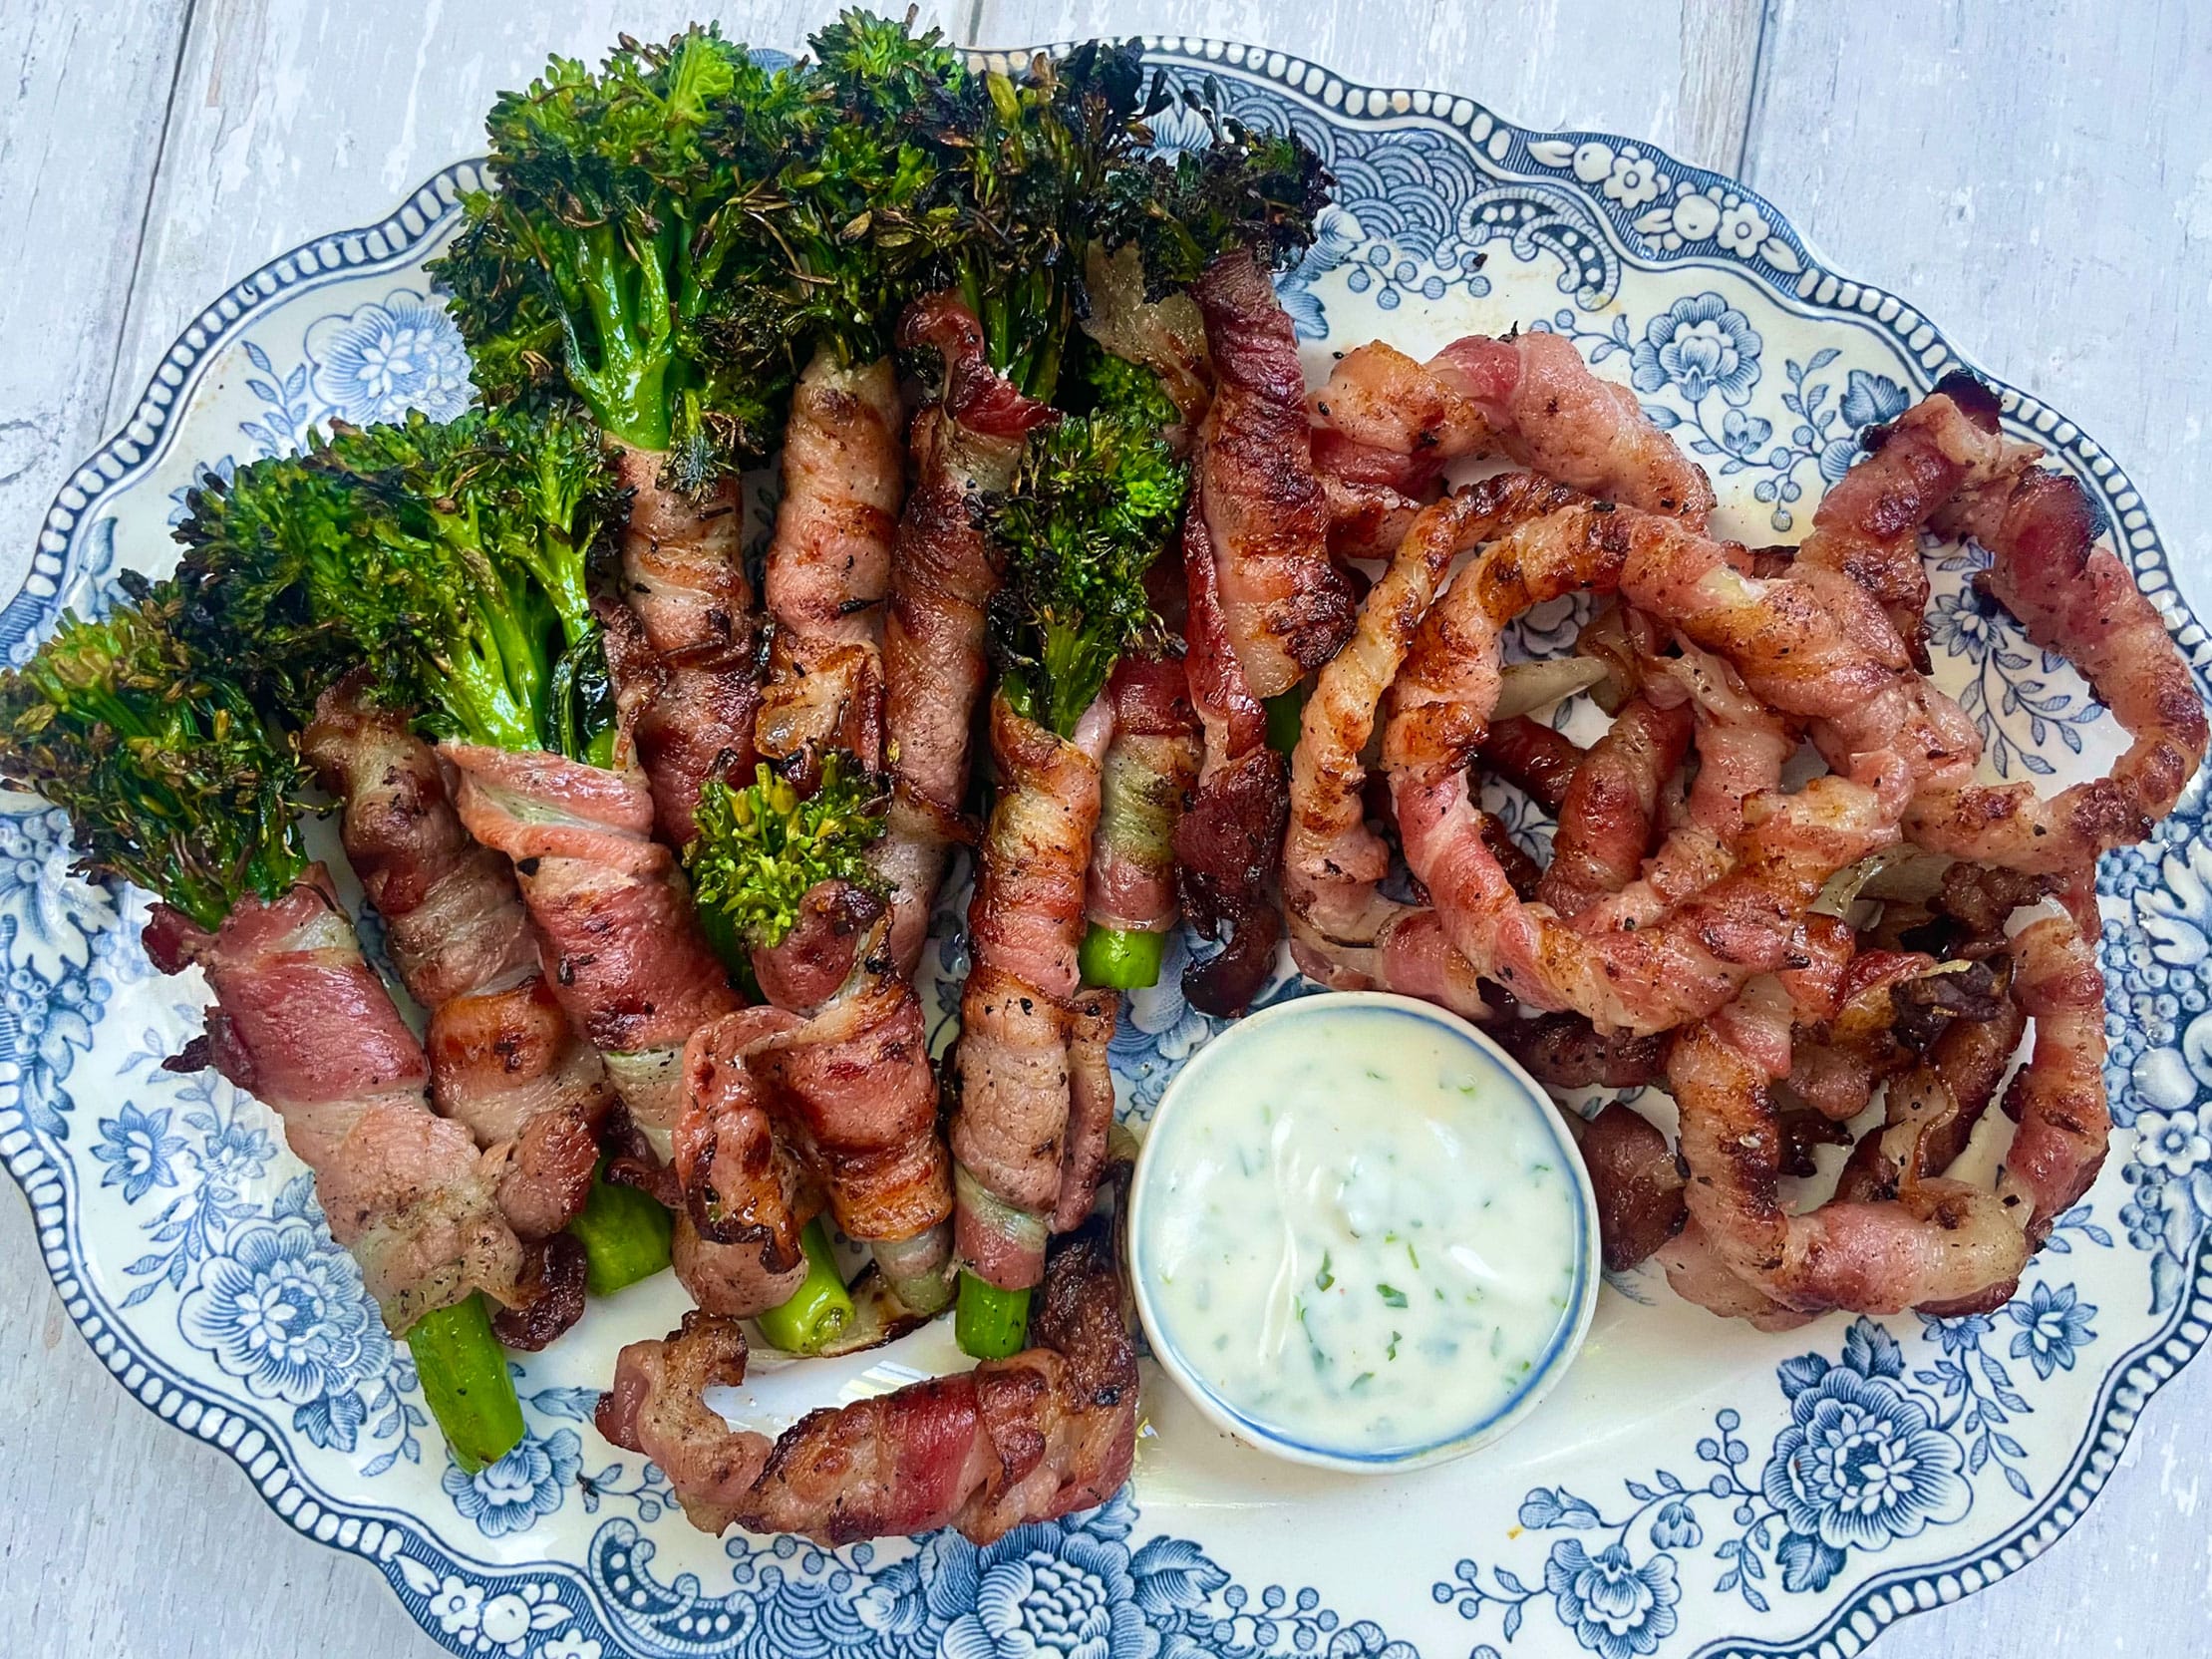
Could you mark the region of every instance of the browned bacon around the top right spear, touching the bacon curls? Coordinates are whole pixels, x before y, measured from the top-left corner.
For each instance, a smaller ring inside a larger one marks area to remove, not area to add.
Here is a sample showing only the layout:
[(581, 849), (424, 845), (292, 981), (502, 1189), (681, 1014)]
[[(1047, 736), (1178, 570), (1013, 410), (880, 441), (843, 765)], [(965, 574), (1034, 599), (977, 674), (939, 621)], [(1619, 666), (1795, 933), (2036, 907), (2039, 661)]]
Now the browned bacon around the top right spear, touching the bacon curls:
[(1219, 568), (1225, 639), (1254, 697), (1279, 697), (1352, 635), (1352, 591), (1329, 564), (1298, 336), (1250, 252), (1194, 288), (1214, 361), (1199, 427), (1197, 502)]

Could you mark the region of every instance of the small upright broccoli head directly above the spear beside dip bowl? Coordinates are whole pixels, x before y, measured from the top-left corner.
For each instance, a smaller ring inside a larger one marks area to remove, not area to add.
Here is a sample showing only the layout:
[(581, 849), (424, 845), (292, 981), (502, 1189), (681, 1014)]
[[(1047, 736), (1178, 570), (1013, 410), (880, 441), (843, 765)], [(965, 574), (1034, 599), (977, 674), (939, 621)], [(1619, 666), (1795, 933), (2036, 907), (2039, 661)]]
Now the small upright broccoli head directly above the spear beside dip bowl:
[(1099, 409), (1031, 434), (993, 526), (1006, 584), (991, 639), (1022, 714), (1071, 737), (1115, 661), (1159, 635), (1144, 575), (1188, 491), (1148, 414)]

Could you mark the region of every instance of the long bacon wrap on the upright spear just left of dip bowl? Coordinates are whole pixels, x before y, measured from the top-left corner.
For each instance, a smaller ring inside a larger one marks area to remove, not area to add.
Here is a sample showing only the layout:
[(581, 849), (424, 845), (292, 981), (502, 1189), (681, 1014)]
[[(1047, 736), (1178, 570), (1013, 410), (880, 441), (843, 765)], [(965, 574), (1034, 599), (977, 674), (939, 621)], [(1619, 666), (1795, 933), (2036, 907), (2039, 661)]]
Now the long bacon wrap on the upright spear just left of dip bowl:
[[(1004, 695), (991, 701), (998, 799), (969, 902), (975, 967), (960, 998), (951, 1150), (960, 1256), (1002, 1290), (1037, 1283), (1051, 1217), (1091, 1208), (1091, 1194), (1075, 1190), (1086, 1164), (1068, 1164), (1077, 1113), (1068, 1044), (1079, 1018), (1075, 953), (1099, 754), (1110, 737), (1104, 699), (1073, 739), (1022, 719)], [(1097, 1004), (1088, 1018), (1110, 1033), (1110, 995), (1086, 998)]]

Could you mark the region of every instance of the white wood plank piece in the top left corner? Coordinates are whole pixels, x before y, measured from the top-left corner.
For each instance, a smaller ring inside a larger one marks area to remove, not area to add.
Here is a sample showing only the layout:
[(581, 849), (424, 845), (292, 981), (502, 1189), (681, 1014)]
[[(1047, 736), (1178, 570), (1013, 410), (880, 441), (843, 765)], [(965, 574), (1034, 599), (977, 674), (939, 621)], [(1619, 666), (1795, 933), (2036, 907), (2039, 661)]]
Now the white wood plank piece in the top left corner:
[(0, 7), (0, 593), (106, 436), (184, 0)]

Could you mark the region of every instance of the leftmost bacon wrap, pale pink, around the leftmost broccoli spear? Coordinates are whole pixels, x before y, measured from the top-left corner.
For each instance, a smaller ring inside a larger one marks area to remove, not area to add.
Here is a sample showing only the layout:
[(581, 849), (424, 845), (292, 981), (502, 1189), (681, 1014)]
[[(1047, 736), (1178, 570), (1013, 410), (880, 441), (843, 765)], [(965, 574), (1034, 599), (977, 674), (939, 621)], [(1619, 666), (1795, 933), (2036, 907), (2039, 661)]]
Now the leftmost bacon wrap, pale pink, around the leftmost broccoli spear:
[(469, 1130), (429, 1110), (422, 1046), (363, 960), (330, 872), (310, 865), (283, 898), (243, 900), (215, 933), (155, 905), (146, 953), (164, 973), (208, 975), (206, 1064), (283, 1121), (330, 1237), (394, 1332), (478, 1290), (522, 1301), (522, 1245), (493, 1170)]

